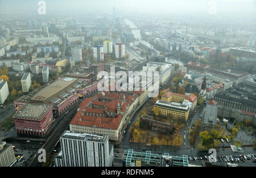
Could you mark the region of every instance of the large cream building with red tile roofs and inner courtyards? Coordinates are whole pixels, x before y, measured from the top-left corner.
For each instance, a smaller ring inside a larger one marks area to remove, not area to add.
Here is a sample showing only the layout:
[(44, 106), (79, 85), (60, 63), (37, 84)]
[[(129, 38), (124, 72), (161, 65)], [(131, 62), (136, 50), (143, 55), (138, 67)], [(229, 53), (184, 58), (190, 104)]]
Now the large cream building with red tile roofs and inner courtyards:
[(119, 140), (138, 104), (138, 92), (101, 92), (81, 102), (69, 124), (70, 130), (109, 135), (109, 139)]

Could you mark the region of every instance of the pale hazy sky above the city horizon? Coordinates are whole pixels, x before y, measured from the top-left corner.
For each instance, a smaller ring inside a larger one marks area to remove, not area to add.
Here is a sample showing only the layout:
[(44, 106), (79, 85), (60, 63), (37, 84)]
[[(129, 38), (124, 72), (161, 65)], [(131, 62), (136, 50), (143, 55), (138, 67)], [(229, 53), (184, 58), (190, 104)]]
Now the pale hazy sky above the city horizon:
[[(39, 0), (0, 0), (0, 10), (37, 12)], [(210, 4), (210, 1), (214, 2)], [(216, 5), (216, 13), (254, 13), (255, 0), (45, 0), (46, 10), (52, 11), (116, 11), (150, 14), (208, 13), (210, 5)]]

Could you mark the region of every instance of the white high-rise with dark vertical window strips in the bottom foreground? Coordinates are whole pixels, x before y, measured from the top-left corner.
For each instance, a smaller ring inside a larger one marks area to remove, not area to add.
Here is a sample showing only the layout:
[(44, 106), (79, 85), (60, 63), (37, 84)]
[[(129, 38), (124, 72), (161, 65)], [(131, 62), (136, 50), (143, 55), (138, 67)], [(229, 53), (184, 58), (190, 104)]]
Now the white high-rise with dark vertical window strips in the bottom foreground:
[(61, 151), (55, 158), (57, 167), (111, 167), (113, 145), (108, 135), (65, 131), (60, 137)]

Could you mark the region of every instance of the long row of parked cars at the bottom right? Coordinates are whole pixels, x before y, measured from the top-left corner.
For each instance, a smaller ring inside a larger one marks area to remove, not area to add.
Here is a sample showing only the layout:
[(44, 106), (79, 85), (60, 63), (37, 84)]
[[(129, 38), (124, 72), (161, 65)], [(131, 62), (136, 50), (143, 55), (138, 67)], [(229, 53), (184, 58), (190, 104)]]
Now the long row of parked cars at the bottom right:
[(256, 162), (256, 155), (233, 155), (233, 156), (217, 156), (217, 158), (213, 158), (210, 156), (200, 156), (200, 157), (189, 157), (189, 160), (215, 160), (216, 162), (245, 162), (245, 160), (253, 160)]

